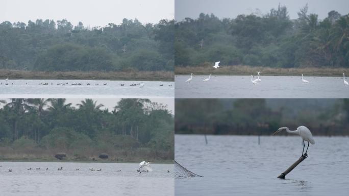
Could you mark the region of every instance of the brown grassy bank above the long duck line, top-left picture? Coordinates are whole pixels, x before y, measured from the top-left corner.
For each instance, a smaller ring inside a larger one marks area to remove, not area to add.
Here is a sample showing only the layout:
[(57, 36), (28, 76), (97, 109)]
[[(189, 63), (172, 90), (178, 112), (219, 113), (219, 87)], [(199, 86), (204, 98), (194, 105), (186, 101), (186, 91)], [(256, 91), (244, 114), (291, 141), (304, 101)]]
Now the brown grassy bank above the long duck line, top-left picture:
[(173, 71), (26, 71), (0, 69), (0, 78), (10, 80), (26, 79), (79, 79), (79, 80), (145, 80), (145, 81), (173, 81)]

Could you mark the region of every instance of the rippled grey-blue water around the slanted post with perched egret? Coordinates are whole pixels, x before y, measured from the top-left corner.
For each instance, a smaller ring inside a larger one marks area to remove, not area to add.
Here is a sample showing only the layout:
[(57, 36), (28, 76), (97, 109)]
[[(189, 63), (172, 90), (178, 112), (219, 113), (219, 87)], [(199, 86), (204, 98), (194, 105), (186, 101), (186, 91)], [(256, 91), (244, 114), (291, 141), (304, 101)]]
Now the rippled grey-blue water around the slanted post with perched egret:
[(175, 195), (349, 195), (349, 138), (314, 137), (308, 158), (298, 136), (176, 135), (175, 159), (204, 177), (176, 178)]

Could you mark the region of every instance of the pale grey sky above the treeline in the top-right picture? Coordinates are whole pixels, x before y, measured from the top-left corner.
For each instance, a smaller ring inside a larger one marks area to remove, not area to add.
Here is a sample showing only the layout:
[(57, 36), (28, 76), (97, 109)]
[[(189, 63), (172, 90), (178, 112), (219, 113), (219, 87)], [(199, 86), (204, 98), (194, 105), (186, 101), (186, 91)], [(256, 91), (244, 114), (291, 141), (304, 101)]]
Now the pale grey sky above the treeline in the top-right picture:
[(200, 13), (213, 13), (218, 18), (235, 18), (239, 14), (251, 14), (259, 9), (266, 14), (279, 3), (286, 6), (291, 19), (308, 3), (308, 13), (316, 13), (319, 19), (326, 18), (331, 10), (342, 15), (349, 13), (349, 0), (176, 0), (175, 18), (181, 21), (186, 17), (197, 18)]

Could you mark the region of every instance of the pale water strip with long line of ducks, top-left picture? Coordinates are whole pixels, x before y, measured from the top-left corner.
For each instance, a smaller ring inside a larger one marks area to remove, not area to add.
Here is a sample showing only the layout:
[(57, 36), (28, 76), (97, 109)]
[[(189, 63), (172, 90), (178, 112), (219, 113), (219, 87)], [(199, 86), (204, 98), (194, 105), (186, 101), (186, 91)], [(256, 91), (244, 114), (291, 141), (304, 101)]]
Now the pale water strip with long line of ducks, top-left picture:
[[(130, 86), (144, 82), (144, 87)], [(8, 85), (6, 85), (8, 83)], [(12, 84), (13, 83), (13, 84)], [(27, 83), (27, 84), (26, 84)], [(48, 85), (39, 85), (48, 83)], [(52, 83), (52, 85), (51, 85)], [(68, 83), (68, 85), (57, 85)], [(83, 83), (83, 85), (71, 85)], [(90, 83), (90, 85), (87, 85)], [(106, 83), (107, 85), (104, 85)], [(98, 84), (96, 86), (95, 84)], [(120, 86), (119, 84), (124, 84)], [(163, 86), (160, 86), (162, 84)], [(171, 85), (171, 86), (169, 86)], [(174, 82), (110, 80), (9, 80), (1, 81), (4, 98), (167, 98), (174, 97)]]

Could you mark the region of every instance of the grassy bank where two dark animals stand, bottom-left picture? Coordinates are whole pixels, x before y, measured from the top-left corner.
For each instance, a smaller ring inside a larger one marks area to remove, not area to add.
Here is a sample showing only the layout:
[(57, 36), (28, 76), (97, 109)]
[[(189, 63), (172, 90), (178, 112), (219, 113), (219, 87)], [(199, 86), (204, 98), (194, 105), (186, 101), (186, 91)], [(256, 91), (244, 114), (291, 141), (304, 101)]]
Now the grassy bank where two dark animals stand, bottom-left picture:
[[(66, 153), (66, 158), (58, 160), (56, 153)], [(142, 160), (150, 160), (154, 163), (172, 163), (173, 159), (167, 159), (168, 152), (152, 151), (149, 148), (137, 150), (117, 150), (108, 153), (108, 159), (98, 158), (101, 153), (97, 152), (74, 152), (62, 150), (44, 150), (41, 148), (12, 149), (0, 147), (0, 161), (35, 161), (35, 162), (117, 162), (117, 163), (139, 163)], [(173, 156), (172, 156), (173, 157)]]

